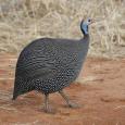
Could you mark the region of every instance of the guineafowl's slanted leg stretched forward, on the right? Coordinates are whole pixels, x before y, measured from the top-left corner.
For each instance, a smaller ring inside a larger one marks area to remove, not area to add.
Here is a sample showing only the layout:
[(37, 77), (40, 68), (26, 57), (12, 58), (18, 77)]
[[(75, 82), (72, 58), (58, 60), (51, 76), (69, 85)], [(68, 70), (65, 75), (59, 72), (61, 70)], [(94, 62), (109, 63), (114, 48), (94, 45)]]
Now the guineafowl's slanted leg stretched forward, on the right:
[(62, 90), (60, 90), (59, 93), (64, 98), (64, 100), (66, 101), (66, 103), (67, 103), (67, 105), (70, 108), (79, 108), (78, 104), (71, 102), (71, 100), (68, 99), (68, 97)]

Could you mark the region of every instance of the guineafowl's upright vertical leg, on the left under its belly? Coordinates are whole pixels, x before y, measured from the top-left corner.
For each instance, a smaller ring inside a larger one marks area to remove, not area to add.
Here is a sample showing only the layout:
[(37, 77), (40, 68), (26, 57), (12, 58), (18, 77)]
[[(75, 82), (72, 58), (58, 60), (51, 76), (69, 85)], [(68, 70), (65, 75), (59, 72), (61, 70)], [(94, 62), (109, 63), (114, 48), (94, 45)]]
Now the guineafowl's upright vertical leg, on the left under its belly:
[(49, 95), (45, 95), (45, 112), (55, 113), (55, 111), (49, 107)]

